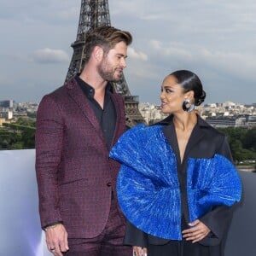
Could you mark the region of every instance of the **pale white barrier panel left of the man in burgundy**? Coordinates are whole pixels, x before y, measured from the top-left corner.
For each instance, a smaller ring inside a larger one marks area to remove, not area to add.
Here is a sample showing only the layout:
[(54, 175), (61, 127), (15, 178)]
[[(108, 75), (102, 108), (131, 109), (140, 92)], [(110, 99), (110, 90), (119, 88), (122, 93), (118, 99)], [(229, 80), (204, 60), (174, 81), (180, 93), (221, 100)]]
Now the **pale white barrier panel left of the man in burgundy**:
[(34, 166), (34, 149), (0, 151), (0, 255), (52, 255), (40, 227)]

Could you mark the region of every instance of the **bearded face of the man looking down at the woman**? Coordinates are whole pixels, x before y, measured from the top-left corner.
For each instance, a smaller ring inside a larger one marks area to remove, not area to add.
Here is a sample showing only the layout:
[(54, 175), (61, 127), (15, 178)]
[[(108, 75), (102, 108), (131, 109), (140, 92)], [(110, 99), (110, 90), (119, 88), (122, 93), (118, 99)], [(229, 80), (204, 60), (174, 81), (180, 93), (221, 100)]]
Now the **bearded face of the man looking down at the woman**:
[(98, 66), (98, 73), (102, 79), (118, 82), (122, 77), (123, 69), (126, 67), (126, 57), (127, 45), (125, 42), (119, 42), (113, 49), (110, 49)]

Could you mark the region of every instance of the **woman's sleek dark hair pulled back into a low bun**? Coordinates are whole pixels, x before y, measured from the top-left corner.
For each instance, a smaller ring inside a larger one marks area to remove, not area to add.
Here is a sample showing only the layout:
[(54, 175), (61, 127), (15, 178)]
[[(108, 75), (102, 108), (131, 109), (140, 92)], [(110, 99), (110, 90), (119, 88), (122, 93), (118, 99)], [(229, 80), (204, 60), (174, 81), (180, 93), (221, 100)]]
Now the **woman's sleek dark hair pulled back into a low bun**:
[(177, 79), (177, 83), (183, 86), (185, 92), (194, 91), (195, 106), (199, 106), (204, 102), (207, 94), (202, 89), (201, 80), (195, 73), (189, 70), (177, 70), (170, 75)]

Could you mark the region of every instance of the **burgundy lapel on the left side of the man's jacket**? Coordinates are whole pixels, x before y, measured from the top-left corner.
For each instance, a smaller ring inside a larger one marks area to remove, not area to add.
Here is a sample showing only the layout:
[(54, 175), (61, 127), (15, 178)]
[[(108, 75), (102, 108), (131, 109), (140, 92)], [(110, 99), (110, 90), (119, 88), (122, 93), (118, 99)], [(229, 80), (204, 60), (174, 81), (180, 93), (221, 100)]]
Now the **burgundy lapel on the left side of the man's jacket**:
[(91, 125), (96, 129), (96, 133), (102, 137), (102, 140), (105, 142), (101, 125), (99, 124), (98, 120), (96, 119), (96, 115), (93, 109), (90, 107), (90, 102), (84, 96), (83, 91), (79, 88), (79, 84), (77, 84), (75, 79), (72, 79), (70, 82), (67, 83), (67, 92), (69, 96), (73, 98), (73, 101), (76, 102), (79, 108), (84, 113), (84, 116)]

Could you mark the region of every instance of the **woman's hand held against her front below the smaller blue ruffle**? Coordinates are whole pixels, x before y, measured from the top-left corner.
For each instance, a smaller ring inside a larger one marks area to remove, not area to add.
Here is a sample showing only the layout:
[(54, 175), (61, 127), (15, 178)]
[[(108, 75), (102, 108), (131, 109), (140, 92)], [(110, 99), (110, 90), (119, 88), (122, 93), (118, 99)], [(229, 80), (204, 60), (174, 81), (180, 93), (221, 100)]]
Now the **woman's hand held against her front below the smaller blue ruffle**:
[(183, 238), (187, 241), (192, 241), (193, 243), (201, 241), (211, 232), (211, 230), (199, 219), (189, 223), (189, 226), (191, 226), (191, 228), (183, 230)]

